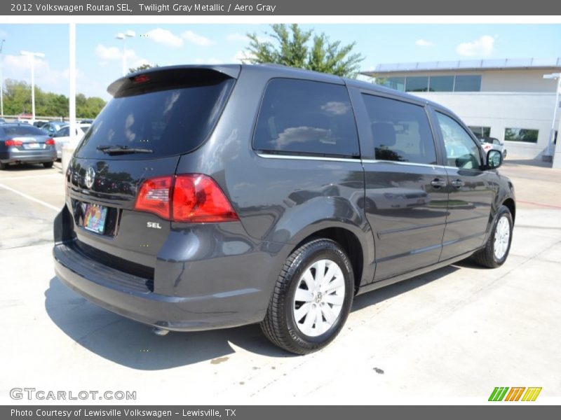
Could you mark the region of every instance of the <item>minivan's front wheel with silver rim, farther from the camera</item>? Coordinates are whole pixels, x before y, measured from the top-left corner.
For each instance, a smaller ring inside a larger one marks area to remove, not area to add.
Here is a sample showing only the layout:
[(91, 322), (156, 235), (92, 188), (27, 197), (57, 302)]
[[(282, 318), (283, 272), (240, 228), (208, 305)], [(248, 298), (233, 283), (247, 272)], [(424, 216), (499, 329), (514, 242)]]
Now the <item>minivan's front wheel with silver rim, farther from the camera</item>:
[(491, 235), (485, 246), (473, 254), (473, 260), (487, 268), (500, 267), (508, 258), (513, 240), (513, 218), (508, 207), (501, 206), (497, 211)]

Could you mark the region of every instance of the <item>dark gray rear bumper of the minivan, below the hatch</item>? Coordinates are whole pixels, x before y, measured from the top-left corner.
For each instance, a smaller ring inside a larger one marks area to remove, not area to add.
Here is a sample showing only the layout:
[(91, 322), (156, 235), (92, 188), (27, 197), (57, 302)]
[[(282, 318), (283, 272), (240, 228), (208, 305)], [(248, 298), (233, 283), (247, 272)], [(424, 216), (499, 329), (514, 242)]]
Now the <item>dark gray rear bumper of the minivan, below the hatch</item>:
[[(211, 330), (257, 323), (264, 318), (268, 304), (262, 290), (256, 288), (208, 290), (187, 297), (153, 293), (142, 279), (97, 263), (72, 244), (56, 244), (53, 256), (58, 278), (76, 293), (116, 314), (168, 330)], [(256, 306), (257, 300), (262, 303)]]

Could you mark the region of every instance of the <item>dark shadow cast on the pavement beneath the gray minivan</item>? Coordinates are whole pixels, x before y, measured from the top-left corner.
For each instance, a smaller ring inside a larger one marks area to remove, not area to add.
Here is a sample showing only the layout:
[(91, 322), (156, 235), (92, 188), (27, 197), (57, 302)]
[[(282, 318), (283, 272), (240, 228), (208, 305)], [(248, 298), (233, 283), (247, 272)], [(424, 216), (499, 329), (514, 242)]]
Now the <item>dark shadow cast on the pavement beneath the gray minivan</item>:
[[(444, 267), (359, 295), (352, 311), (406, 293), (457, 269), (459, 267)], [(170, 332), (165, 337), (158, 337), (147, 325), (88, 302), (63, 285), (56, 276), (50, 279), (49, 288), (45, 291), (45, 309), (55, 325), (77, 344), (102, 358), (138, 370), (163, 370), (203, 361), (218, 364), (236, 352), (236, 346), (269, 357), (295, 357), (269, 343), (259, 325), (201, 332)]]

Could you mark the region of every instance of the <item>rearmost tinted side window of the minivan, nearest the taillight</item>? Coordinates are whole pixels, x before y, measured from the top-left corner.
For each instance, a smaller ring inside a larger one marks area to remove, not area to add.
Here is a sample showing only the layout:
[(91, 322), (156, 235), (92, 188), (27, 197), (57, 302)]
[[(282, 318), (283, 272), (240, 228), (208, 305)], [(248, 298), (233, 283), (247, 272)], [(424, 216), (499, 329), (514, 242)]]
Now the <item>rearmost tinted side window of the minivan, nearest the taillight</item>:
[(277, 153), (360, 155), (346, 87), (309, 80), (271, 80), (257, 118), (253, 148)]

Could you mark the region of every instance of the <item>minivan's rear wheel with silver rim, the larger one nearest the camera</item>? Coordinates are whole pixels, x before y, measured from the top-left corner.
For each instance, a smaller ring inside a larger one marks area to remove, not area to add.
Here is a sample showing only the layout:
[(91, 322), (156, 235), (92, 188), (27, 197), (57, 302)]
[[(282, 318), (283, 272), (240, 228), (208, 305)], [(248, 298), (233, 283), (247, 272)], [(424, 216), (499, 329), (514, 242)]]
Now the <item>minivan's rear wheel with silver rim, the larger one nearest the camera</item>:
[(342, 329), (353, 302), (353, 267), (330, 239), (314, 239), (285, 262), (261, 329), (291, 353), (312, 353), (327, 346)]

